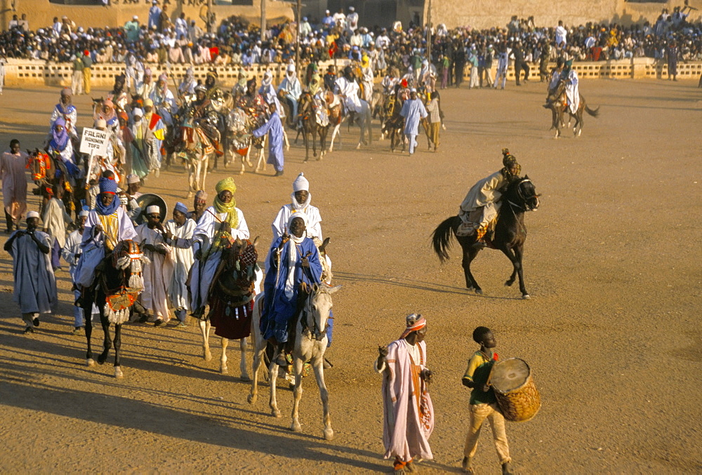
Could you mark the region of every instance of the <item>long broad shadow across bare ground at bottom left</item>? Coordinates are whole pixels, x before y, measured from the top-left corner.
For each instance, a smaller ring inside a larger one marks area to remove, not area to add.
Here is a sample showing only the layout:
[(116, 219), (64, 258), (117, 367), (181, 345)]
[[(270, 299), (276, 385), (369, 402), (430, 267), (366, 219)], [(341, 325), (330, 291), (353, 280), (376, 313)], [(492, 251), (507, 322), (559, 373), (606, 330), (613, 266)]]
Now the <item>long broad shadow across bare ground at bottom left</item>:
[[(293, 457), (310, 462), (343, 464), (353, 469), (385, 471), (387, 468), (385, 464), (353, 460), (347, 456), (352, 454), (364, 459), (378, 457), (376, 453), (367, 450), (334, 446), (333, 443), (325, 443), (321, 439), (287, 435), (285, 431), (270, 434), (231, 427), (213, 415), (194, 415), (190, 411), (181, 412), (172, 407), (145, 401), (98, 392), (63, 389), (50, 384), (33, 383), (29, 386), (14, 380), (0, 382), (0, 391), (6, 394), (1, 402), (4, 406), (42, 411), (125, 429), (138, 429), (235, 450)], [(130, 417), (131, 415), (134, 417)], [(332, 453), (329, 453), (330, 451)]]

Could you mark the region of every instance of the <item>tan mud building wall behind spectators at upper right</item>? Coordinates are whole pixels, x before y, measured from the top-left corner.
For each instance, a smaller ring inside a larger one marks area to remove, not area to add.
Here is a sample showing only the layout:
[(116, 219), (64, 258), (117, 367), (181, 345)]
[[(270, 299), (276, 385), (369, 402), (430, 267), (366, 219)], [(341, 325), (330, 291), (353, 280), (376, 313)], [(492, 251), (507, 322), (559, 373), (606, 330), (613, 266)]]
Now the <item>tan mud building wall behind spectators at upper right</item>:
[[(651, 25), (661, 14), (662, 8), (673, 13), (682, 0), (667, 2), (630, 2), (624, 0), (425, 0), (425, 15), (431, 5), (431, 22), (444, 23), (446, 27), (503, 28), (512, 15), (518, 18), (534, 16), (536, 26), (555, 27), (558, 20), (565, 25), (585, 25), (587, 22), (617, 22), (622, 25), (649, 20)], [(702, 18), (702, 0), (689, 0), (698, 8), (689, 20)]]

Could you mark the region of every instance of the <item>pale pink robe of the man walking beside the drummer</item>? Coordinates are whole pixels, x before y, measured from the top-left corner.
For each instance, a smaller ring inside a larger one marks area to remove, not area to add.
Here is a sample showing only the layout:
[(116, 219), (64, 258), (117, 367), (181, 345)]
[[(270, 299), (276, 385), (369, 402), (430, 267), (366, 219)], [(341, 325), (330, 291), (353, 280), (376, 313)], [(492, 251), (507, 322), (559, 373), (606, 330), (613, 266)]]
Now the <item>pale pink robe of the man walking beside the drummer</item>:
[(383, 373), (385, 458), (399, 457), (403, 462), (434, 458), (429, 446), (434, 407), (426, 383), (419, 377), (426, 363), (427, 344), (412, 346), (404, 339), (388, 345), (388, 356), (380, 368), (376, 360), (376, 371)]

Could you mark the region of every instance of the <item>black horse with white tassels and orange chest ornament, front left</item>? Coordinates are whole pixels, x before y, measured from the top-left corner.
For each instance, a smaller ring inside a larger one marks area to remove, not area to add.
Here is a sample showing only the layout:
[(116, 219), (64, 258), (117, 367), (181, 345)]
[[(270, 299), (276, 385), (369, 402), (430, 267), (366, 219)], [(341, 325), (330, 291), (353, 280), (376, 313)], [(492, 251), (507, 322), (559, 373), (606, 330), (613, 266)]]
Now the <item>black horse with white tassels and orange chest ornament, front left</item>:
[[(102, 252), (95, 248), (93, 252)], [(83, 312), (85, 315), (87, 366), (95, 366), (91, 349), (91, 322), (93, 303), (100, 312), (100, 323), (105, 338), (102, 353), (98, 363), (105, 363), (110, 347), (114, 344), (114, 377), (124, 377), (119, 361), (121, 349), (121, 327), (129, 319), (129, 307), (135, 304), (138, 295), (144, 288), (141, 275), (143, 265), (148, 260), (136, 241), (126, 239), (117, 243), (111, 253), (108, 253), (95, 268), (95, 278), (90, 287), (82, 293)], [(110, 323), (114, 323), (114, 340), (110, 340)]]

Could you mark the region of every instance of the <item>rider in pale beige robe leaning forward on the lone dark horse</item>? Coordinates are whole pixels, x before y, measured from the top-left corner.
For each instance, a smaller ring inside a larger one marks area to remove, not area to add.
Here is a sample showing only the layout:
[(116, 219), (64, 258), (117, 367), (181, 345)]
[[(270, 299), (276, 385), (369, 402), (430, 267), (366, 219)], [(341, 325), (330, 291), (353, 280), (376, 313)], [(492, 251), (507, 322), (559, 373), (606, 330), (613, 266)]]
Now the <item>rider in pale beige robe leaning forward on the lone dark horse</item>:
[(508, 149), (502, 149), (504, 168), (479, 180), (465, 195), (458, 217), (461, 225), (456, 230), (456, 236), (475, 234), (477, 246), (487, 246), (494, 232), (494, 221), (500, 210), (500, 198), (504, 189), (522, 172), (517, 163), (517, 157), (510, 154)]

